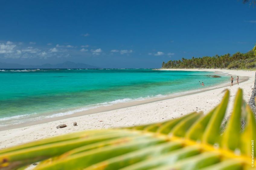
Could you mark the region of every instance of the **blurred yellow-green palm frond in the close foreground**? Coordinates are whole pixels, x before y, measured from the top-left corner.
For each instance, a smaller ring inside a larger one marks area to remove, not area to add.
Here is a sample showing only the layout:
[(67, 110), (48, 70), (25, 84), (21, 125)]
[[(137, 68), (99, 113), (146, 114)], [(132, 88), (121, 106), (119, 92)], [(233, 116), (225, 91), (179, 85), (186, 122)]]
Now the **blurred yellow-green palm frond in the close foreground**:
[(40, 161), (35, 169), (250, 169), (254, 113), (239, 89), (221, 134), (228, 101), (226, 91), (205, 115), (194, 112), (162, 123), (82, 131), (0, 150), (0, 168), (22, 169)]

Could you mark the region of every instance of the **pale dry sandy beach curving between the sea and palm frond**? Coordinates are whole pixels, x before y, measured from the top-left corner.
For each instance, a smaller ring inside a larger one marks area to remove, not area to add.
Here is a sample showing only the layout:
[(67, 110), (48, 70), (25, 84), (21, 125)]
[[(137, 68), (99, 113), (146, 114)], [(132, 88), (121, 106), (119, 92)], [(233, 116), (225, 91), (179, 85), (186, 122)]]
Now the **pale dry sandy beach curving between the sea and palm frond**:
[[(82, 116), (74, 115), (75, 117), (0, 131), (0, 149), (74, 131), (141, 125), (166, 121), (168, 119), (185, 115), (192, 111), (208, 112), (220, 102), (225, 89), (229, 89), (231, 92), (231, 102), (229, 103), (228, 107), (228, 113), (230, 113), (232, 111), (231, 105), (233, 105), (233, 100), (237, 89), (243, 89), (244, 99), (248, 103), (251, 97), (252, 88), (254, 88), (255, 71), (221, 69), (165, 70), (218, 71), (226, 75), (232, 75), (234, 78), (236, 78), (237, 75), (240, 77), (248, 77), (248, 80), (237, 85), (237, 82), (234, 79), (234, 86), (232, 87), (230, 84), (222, 84), (214, 88), (210, 88), (208, 91), (204, 90), (203, 92), (195, 94), (169, 99), (163, 98), (165, 100), (159, 101), (152, 100), (154, 102), (148, 102), (146, 104), (143, 104), (142, 102), (140, 105), (136, 106), (126, 108), (120, 107), (121, 109), (115, 109), (116, 107), (113, 106), (114, 110), (109, 109), (110, 111), (87, 115), (80, 113)], [(129, 106), (129, 104), (127, 106)], [(78, 126), (73, 126), (73, 122), (77, 122)], [(57, 129), (56, 126), (60, 124), (66, 124), (67, 127)]]

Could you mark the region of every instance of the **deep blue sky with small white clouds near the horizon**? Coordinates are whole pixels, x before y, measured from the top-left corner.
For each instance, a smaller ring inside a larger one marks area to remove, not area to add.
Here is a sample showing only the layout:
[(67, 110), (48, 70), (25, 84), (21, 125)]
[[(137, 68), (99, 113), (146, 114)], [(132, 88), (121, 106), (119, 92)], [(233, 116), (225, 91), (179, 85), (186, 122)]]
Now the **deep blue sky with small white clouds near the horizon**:
[(0, 62), (158, 68), (256, 42), (256, 7), (242, 0), (0, 1)]

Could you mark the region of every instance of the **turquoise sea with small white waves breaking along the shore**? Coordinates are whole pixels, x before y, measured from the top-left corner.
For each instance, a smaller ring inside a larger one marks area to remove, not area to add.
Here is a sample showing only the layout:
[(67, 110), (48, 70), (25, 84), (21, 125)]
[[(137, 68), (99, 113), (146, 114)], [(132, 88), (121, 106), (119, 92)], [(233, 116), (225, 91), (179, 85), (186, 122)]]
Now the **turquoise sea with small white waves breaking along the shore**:
[(229, 81), (226, 76), (209, 76), (214, 74), (153, 69), (0, 70), (0, 127)]

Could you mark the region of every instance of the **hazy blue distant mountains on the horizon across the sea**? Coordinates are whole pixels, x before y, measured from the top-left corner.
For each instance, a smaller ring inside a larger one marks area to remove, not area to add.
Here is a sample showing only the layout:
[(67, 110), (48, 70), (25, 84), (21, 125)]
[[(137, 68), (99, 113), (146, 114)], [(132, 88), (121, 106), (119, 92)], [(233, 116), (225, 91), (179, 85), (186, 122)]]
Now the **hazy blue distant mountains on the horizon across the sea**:
[(98, 69), (97, 66), (91, 66), (84, 63), (74, 63), (71, 61), (66, 61), (59, 64), (43, 64), (43, 65), (22, 65), (22, 64), (11, 64), (11, 63), (1, 63), (0, 69)]

